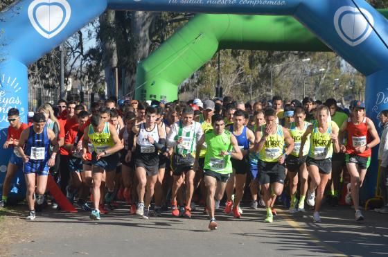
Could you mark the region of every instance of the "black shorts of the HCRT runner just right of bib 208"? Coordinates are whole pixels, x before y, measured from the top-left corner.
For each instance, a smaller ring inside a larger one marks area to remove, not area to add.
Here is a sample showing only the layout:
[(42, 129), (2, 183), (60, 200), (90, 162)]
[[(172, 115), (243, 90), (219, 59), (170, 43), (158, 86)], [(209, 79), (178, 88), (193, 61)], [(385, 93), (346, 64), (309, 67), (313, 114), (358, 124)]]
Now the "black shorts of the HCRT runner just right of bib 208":
[(258, 183), (261, 185), (280, 183), (284, 184), (285, 167), (279, 162), (267, 162), (258, 160)]

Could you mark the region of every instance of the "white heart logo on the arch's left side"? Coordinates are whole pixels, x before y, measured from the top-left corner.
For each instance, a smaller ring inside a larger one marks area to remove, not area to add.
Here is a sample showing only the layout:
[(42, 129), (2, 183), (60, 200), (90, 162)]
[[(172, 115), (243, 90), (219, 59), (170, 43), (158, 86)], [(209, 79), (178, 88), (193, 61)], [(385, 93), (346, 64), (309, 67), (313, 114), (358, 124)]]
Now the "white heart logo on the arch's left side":
[(35, 0), (28, 6), (28, 18), (37, 32), (51, 39), (66, 27), (71, 8), (66, 0)]

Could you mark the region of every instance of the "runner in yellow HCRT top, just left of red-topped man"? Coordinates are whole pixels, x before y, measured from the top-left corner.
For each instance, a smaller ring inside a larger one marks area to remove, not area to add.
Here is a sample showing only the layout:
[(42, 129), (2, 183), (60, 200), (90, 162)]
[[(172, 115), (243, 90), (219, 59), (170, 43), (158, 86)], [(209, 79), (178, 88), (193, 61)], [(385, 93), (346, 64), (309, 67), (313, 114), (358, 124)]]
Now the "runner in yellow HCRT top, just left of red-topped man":
[[(338, 144), (338, 127), (334, 121), (327, 121), (329, 116), (328, 107), (321, 105), (317, 108), (317, 121), (309, 125), (302, 136), (299, 157), (303, 157), (304, 145), (310, 136), (310, 152), (306, 159), (308, 174), (311, 177), (310, 189), (308, 190), (307, 204), (315, 205), (313, 218), (315, 222), (321, 222), (319, 217), (319, 208), (321, 207), (322, 198), (326, 184), (331, 172), (331, 157), (333, 148), (335, 152), (340, 151)], [(317, 196), (315, 197), (315, 189)]]

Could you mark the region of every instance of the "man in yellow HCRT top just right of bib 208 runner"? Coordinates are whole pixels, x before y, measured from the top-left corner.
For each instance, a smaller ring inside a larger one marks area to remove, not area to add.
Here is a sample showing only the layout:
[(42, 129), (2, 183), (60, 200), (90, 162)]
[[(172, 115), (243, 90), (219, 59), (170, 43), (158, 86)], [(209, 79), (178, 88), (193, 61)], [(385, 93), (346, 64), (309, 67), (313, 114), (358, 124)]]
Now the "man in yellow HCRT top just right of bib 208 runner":
[[(264, 222), (272, 223), (271, 193), (279, 196), (283, 192), (285, 180), (285, 159), (294, 150), (290, 132), (276, 124), (276, 111), (265, 109), (265, 125), (255, 134), (254, 151), (258, 152), (258, 182), (261, 184), (267, 217)], [(284, 152), (284, 149), (287, 149)]]

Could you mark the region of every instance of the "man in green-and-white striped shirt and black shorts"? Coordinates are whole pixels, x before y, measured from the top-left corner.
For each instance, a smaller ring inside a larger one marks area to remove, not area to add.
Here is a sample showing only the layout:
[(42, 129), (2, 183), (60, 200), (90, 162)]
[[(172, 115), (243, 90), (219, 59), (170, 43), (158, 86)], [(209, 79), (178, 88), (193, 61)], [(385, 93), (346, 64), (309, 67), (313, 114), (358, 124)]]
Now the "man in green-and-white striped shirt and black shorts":
[[(184, 206), (184, 216), (191, 218), (191, 198), (194, 192), (193, 170), (195, 147), (197, 141), (202, 137), (201, 124), (193, 121), (194, 110), (185, 107), (182, 112), (182, 119), (174, 123), (167, 137), (168, 146), (173, 148), (173, 188), (171, 192), (171, 211), (177, 217), (177, 193), (185, 180), (186, 202)], [(181, 203), (182, 206), (182, 203)]]

